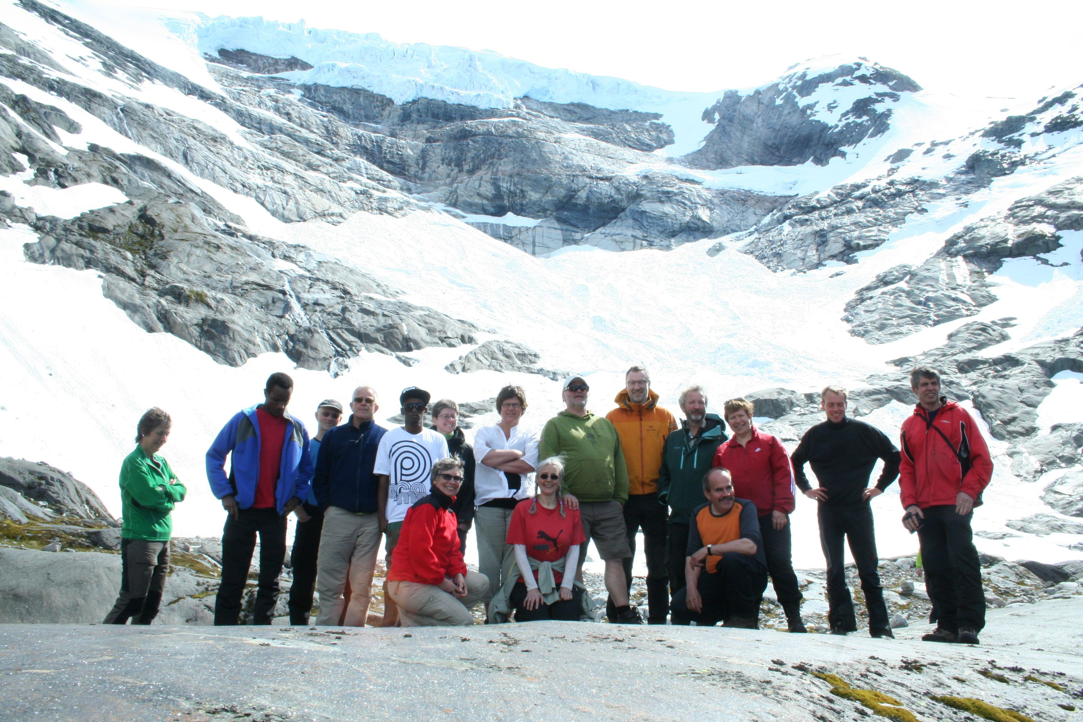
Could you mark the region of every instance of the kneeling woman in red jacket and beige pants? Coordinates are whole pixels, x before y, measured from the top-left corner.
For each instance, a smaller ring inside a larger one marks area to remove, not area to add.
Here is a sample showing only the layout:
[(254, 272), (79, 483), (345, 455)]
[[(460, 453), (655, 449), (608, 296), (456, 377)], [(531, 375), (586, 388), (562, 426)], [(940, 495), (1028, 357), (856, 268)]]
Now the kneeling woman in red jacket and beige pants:
[(432, 488), (406, 512), (388, 572), (388, 593), (399, 605), (403, 627), (473, 623), (470, 607), (488, 591), (488, 577), (468, 572), (458, 522), (451, 511), (462, 485), (462, 462), (432, 465)]

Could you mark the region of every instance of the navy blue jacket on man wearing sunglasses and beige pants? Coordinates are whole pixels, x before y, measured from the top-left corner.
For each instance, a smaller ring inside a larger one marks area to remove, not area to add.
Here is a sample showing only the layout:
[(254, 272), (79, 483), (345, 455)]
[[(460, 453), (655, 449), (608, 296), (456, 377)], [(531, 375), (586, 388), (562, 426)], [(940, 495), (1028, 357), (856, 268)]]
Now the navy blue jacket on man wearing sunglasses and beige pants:
[(324, 434), (316, 459), (312, 490), (321, 509), (339, 507), (349, 512), (377, 511), (379, 477), (373, 473), (380, 438), (388, 432), (374, 421), (354, 429), (353, 417)]

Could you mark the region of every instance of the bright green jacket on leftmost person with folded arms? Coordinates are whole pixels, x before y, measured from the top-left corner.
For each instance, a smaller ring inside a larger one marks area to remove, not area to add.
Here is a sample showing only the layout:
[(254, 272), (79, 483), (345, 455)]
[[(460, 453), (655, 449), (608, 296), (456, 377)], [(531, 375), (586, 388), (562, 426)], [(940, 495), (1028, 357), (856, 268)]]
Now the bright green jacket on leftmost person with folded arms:
[(139, 446), (120, 465), (120, 536), (144, 541), (169, 541), (173, 534), (170, 512), (184, 501), (187, 489), (157, 454), (147, 458)]

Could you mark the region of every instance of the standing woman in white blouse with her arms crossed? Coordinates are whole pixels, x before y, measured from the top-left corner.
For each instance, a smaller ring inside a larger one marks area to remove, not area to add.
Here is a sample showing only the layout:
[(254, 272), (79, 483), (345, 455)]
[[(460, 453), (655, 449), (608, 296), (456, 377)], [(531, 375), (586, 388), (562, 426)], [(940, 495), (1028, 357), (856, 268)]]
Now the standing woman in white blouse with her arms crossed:
[(533, 496), (531, 475), (538, 462), (537, 434), (521, 430), (526, 392), (505, 386), (496, 395), (499, 423), (479, 429), (474, 436), (474, 504), (478, 511), (478, 568), (488, 577), (493, 594), (514, 568), (514, 551), (507, 543), (511, 512), (522, 499)]

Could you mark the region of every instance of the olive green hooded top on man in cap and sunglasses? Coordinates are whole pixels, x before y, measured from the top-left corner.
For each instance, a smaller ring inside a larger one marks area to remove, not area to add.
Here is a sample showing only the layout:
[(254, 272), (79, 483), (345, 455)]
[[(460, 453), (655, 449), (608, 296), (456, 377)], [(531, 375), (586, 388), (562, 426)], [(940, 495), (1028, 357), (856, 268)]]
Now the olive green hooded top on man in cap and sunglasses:
[(579, 501), (628, 500), (628, 468), (621, 437), (610, 420), (587, 411), (561, 411), (546, 422), (538, 459), (564, 457), (563, 490)]

